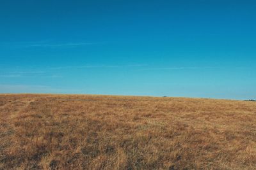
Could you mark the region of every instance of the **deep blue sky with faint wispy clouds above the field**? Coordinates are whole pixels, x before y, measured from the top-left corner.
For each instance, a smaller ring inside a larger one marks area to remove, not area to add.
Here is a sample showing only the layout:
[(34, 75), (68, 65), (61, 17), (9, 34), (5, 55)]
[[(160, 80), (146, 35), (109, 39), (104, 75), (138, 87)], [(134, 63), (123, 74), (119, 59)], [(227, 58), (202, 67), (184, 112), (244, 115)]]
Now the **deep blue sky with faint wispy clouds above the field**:
[(0, 93), (256, 98), (255, 1), (0, 2)]

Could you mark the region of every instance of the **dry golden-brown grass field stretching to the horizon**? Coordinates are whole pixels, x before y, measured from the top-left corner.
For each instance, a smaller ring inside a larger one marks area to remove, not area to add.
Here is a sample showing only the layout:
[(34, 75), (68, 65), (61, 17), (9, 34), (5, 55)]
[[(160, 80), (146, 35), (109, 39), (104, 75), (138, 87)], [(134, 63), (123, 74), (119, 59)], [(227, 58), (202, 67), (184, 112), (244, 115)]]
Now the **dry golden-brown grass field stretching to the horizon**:
[(256, 169), (256, 103), (2, 94), (0, 169)]

